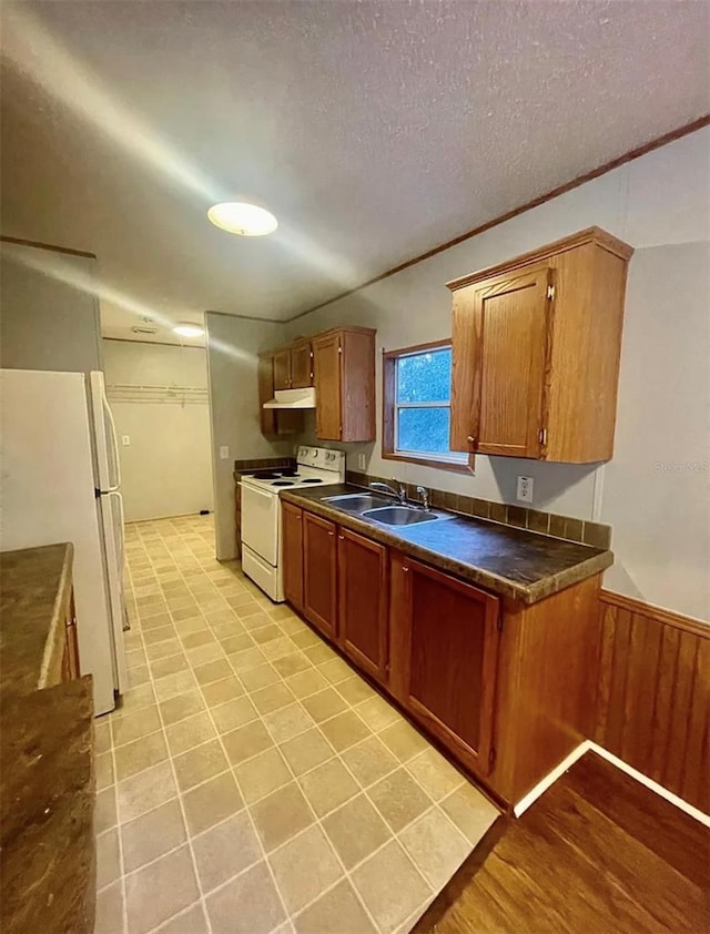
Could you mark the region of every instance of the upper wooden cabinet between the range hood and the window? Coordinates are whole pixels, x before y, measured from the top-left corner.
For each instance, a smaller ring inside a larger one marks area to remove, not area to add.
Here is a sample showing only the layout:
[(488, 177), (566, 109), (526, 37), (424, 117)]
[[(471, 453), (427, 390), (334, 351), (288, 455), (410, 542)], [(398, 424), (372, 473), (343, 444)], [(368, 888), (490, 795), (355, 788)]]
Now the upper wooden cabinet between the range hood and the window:
[(375, 439), (375, 331), (343, 327), (313, 338), (316, 436)]

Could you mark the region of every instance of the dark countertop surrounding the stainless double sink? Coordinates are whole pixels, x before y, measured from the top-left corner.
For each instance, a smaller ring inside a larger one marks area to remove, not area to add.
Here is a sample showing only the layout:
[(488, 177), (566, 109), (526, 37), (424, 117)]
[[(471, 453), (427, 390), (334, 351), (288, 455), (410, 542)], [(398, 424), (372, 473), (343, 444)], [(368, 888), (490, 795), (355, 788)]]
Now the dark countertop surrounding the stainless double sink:
[(611, 551), (456, 512), (435, 522), (388, 527), (322, 501), (345, 493), (363, 493), (363, 488), (342, 484), (282, 490), (280, 496), (412, 558), (525, 603), (536, 603), (613, 564)]

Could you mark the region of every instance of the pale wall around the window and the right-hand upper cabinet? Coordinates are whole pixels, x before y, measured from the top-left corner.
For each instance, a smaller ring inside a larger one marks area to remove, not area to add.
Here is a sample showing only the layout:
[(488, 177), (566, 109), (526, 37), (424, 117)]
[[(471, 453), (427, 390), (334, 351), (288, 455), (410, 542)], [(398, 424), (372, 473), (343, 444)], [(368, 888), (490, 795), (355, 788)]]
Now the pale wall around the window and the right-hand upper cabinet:
[[(606, 467), (476, 458), (468, 477), (379, 457), (349, 445), (348, 468), (469, 496), (515, 501), (518, 474), (535, 478), (538, 509), (613, 526), (605, 586), (710, 619), (709, 453), (710, 130), (678, 140), (430, 260), (292, 322), (288, 337), (336, 324), (376, 327), (381, 348), (450, 335), (448, 280), (597, 225), (636, 248), (621, 358), (616, 456)], [(697, 461), (663, 473), (657, 461)], [(702, 469), (704, 465), (704, 470)]]

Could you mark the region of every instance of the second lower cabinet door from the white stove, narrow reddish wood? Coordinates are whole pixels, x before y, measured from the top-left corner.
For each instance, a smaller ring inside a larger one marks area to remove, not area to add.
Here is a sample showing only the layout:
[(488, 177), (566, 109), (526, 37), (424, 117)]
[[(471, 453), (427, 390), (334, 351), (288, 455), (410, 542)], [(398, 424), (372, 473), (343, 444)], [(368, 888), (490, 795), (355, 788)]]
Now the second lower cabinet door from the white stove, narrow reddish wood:
[(303, 611), (324, 636), (337, 627), (337, 548), (335, 525), (303, 514)]

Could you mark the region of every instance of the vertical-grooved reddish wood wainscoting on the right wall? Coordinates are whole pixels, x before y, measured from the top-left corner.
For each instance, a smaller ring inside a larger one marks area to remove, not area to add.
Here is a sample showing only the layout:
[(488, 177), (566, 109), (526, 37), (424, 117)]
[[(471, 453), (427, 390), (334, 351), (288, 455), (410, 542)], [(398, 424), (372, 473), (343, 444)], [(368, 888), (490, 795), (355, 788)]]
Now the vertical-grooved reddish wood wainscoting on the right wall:
[(602, 590), (599, 745), (710, 813), (710, 625)]

